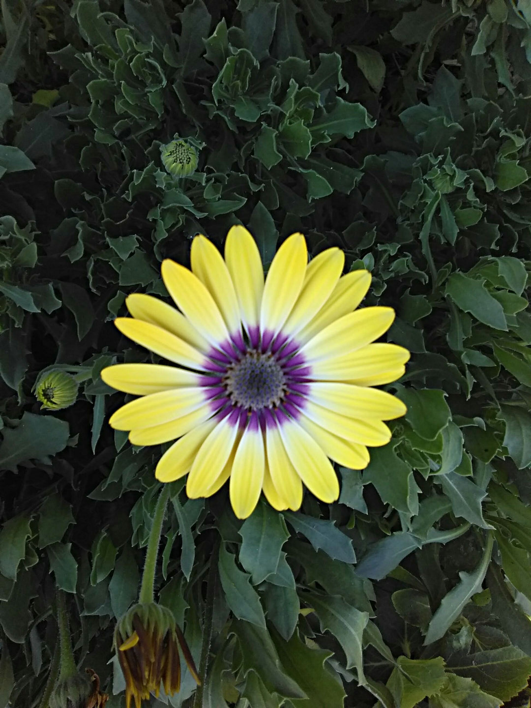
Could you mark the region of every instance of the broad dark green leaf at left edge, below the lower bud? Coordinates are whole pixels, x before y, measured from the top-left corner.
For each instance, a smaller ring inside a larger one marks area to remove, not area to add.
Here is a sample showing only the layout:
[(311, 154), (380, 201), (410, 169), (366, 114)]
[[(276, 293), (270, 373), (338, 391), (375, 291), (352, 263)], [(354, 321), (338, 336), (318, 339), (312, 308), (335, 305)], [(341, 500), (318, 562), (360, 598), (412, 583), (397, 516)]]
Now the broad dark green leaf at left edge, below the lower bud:
[(0, 467), (16, 472), (17, 464), (42, 459), (64, 450), (69, 437), (68, 423), (53, 416), (37, 416), (25, 411), (16, 428), (4, 428), (0, 445)]

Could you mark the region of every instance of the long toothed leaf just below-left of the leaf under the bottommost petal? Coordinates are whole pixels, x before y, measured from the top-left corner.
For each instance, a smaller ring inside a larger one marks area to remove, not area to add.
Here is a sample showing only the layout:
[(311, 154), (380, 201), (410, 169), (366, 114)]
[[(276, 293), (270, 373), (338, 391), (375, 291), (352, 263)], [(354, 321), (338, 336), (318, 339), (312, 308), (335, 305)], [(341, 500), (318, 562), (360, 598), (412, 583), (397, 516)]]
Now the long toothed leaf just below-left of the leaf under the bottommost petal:
[(244, 573), (236, 566), (234, 555), (224, 546), (219, 549), (219, 578), (225, 593), (227, 605), (234, 615), (246, 622), (265, 627), (262, 605), (258, 593), (249, 583), (249, 573)]

